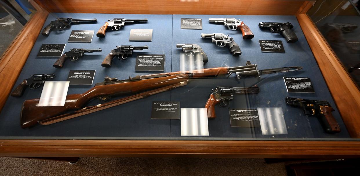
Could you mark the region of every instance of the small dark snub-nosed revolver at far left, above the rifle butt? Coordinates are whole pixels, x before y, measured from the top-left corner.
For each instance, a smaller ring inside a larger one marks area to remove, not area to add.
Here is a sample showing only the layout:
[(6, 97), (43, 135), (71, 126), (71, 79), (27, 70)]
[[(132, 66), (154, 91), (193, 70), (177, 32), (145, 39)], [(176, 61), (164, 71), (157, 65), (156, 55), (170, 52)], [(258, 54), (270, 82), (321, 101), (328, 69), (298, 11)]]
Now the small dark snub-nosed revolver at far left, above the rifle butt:
[(29, 86), (30, 89), (36, 89), (39, 88), (40, 85), (46, 81), (46, 79), (54, 77), (55, 74), (32, 75), (30, 78), (24, 79), (24, 81), (21, 82), (10, 95), (20, 97), (23, 95), (23, 92), (27, 86)]

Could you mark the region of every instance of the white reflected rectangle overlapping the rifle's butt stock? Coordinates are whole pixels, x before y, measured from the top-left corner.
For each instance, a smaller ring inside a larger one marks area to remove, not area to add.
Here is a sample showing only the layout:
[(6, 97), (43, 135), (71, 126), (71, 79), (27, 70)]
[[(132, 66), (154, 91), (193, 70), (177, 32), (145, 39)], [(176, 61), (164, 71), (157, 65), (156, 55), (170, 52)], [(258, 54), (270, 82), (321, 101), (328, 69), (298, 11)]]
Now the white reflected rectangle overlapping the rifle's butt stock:
[(70, 81), (45, 81), (38, 106), (63, 106)]

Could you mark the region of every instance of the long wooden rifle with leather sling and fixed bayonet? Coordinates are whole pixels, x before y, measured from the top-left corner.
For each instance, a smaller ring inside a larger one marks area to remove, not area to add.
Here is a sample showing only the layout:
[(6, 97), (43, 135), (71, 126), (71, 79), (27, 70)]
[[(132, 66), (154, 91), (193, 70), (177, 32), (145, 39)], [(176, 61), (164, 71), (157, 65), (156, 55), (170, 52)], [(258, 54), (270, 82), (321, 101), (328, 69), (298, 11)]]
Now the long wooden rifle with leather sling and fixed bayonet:
[[(205, 77), (219, 77), (235, 73), (236, 78), (240, 79), (247, 76), (260, 76), (270, 73), (280, 73), (288, 71), (296, 71), (302, 67), (284, 67), (258, 70), (256, 64), (247, 62), (246, 66), (238, 67), (218, 67), (207, 68), (198, 71), (185, 72), (171, 72), (159, 73), (154, 75), (143, 75), (136, 77), (129, 77), (128, 80), (117, 80), (116, 78), (105, 77), (105, 81), (95, 84), (95, 87), (84, 92), (83, 94), (72, 94), (66, 96), (64, 106), (38, 106), (39, 99), (26, 100), (21, 109), (21, 127), (27, 128), (36, 125), (37, 123), (48, 125), (58, 121), (63, 121), (69, 118), (81, 116), (85, 111), (95, 112), (103, 109), (102, 105), (95, 105), (85, 107), (86, 104), (94, 99), (108, 100), (111, 96), (120, 93), (138, 93), (121, 100), (120, 102), (111, 101), (112, 106), (123, 104), (132, 100), (144, 98), (159, 91), (172, 89), (172, 87), (179, 87), (186, 84), (189, 80)], [(166, 88), (165, 88), (166, 87)], [(164, 90), (165, 88), (165, 90)], [(155, 91), (152, 92), (151, 90)], [(145, 94), (144, 94), (145, 93)], [(108, 105), (108, 104), (107, 104)], [(73, 111), (68, 113), (69, 111)], [(80, 114), (79, 114), (80, 113)]]

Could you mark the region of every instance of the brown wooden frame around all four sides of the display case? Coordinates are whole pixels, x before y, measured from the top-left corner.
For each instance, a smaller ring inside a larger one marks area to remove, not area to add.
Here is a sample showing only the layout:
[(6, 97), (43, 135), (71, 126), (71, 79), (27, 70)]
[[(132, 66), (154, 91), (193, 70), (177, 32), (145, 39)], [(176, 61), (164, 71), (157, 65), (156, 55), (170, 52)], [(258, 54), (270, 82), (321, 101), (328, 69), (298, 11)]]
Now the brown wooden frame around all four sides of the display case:
[[(227, 0), (224, 3), (212, 0), (92, 0), (89, 3), (85, 0), (30, 0), (30, 3), (37, 9), (36, 14), (0, 60), (0, 77), (7, 78), (0, 82), (0, 90), (3, 92), (0, 94), (0, 109), (3, 108), (49, 12), (296, 15), (350, 136), (360, 138), (360, 91), (306, 15), (314, 1)], [(189, 8), (181, 8), (180, 11), (180, 5)], [(338, 158), (359, 155), (360, 141), (356, 140), (0, 140), (0, 156), (7, 157)]]

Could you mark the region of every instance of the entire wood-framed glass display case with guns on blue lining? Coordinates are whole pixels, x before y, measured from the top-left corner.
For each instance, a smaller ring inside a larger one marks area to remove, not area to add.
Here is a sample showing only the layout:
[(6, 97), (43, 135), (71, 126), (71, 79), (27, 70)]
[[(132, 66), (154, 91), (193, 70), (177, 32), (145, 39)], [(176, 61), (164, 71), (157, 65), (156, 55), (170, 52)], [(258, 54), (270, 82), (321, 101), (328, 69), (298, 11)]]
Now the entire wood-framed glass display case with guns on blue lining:
[(0, 155), (359, 155), (352, 1), (30, 4)]

